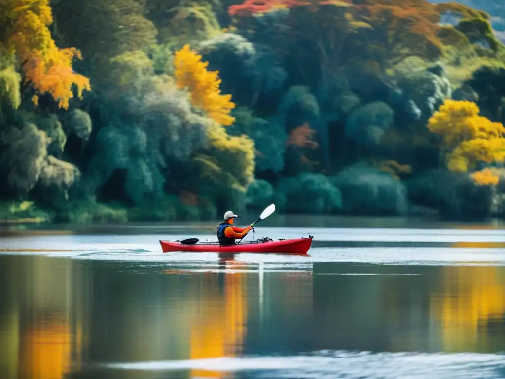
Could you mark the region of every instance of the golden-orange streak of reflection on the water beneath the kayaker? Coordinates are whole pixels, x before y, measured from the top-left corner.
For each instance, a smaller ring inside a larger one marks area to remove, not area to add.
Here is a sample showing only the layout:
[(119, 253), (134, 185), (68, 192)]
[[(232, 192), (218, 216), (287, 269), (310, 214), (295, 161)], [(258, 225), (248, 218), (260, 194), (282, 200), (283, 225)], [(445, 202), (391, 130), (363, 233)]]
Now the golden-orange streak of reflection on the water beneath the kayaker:
[[(247, 273), (243, 263), (231, 261), (226, 269), (224, 294), (216, 293), (218, 276), (212, 275), (202, 287), (202, 296), (191, 322), (190, 359), (234, 357), (243, 346), (247, 318)], [(237, 267), (238, 266), (238, 267)], [(223, 378), (229, 372), (192, 369), (190, 377)]]

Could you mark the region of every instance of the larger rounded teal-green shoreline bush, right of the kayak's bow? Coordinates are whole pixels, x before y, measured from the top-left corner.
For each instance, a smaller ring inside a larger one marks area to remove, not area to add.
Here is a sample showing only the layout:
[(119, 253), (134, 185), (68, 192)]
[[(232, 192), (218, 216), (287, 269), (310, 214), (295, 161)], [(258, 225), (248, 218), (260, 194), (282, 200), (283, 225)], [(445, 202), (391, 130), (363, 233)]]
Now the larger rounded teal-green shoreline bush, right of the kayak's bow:
[(332, 181), (342, 194), (344, 214), (403, 215), (407, 212), (407, 189), (389, 173), (356, 164)]

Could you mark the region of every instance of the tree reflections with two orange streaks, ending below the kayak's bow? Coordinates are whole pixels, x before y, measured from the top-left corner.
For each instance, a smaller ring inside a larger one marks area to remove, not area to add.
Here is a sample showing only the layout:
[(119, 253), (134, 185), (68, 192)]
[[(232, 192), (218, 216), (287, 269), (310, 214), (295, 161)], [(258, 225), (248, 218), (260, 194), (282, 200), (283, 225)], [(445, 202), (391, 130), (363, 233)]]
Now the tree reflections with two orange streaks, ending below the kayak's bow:
[[(8, 372), (2, 379), (150, 379), (159, 373), (104, 372), (87, 363), (234, 357), (310, 345), (312, 272), (260, 275), (257, 269), (234, 259), (195, 272), (0, 257), (0, 371)], [(209, 370), (164, 374), (230, 376)]]

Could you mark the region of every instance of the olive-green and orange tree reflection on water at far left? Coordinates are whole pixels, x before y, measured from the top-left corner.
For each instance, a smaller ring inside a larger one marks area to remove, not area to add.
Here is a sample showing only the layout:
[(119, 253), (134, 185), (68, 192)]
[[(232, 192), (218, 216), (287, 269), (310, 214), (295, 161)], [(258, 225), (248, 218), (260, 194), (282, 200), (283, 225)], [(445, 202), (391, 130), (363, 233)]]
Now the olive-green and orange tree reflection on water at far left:
[(76, 309), (68, 282), (73, 264), (64, 260), (54, 264), (43, 257), (29, 260), (30, 264), (20, 265), (14, 259), (12, 267), (4, 267), (3, 291), (14, 300), (2, 309), (6, 313), (2, 312), (4, 322), (0, 322), (0, 372), (6, 376), (1, 377), (63, 379), (80, 359), (82, 346), (82, 328), (73, 323), (71, 314)]

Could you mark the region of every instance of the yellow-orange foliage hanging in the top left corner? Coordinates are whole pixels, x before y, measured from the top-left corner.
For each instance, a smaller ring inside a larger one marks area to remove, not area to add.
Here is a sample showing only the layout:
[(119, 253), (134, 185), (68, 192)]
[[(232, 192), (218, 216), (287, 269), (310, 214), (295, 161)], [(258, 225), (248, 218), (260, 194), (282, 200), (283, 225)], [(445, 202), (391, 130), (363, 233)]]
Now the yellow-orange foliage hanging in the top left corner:
[[(41, 94), (50, 93), (60, 108), (67, 109), (73, 97), (72, 85), (78, 96), (91, 90), (89, 79), (72, 70), (74, 58), (82, 59), (74, 48), (58, 49), (48, 25), (53, 23), (48, 0), (3, 0), (0, 5), (0, 24), (8, 25), (6, 38), (0, 49), (15, 54), (23, 67), (26, 81), (31, 81)], [(32, 98), (37, 104), (38, 97)]]

